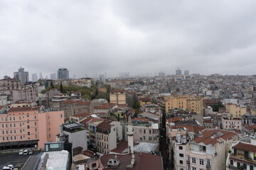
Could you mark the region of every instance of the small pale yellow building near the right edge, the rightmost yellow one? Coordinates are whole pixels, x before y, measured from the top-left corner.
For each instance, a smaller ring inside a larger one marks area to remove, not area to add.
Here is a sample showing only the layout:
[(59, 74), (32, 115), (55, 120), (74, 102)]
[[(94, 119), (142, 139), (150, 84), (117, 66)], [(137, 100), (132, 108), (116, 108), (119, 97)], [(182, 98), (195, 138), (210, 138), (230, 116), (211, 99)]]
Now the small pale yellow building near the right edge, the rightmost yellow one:
[(226, 112), (230, 113), (233, 118), (242, 118), (242, 115), (246, 114), (246, 108), (239, 104), (227, 103)]

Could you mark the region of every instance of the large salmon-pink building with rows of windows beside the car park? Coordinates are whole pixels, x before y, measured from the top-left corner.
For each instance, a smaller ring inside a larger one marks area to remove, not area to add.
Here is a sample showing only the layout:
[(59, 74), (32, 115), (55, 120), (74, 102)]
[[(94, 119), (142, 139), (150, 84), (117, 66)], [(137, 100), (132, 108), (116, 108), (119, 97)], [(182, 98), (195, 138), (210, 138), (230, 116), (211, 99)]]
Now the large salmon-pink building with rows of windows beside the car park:
[(64, 123), (63, 111), (42, 111), (40, 106), (10, 108), (0, 114), (0, 147), (38, 145), (44, 149), (45, 142), (55, 142), (60, 123)]

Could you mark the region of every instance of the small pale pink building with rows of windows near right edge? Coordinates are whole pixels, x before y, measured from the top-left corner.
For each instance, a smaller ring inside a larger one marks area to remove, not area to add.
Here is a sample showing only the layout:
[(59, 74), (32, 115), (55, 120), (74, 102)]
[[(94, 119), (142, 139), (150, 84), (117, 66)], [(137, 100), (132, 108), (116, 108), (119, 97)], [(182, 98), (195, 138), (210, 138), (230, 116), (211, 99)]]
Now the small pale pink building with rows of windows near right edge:
[(240, 118), (221, 118), (223, 130), (242, 130), (242, 120)]

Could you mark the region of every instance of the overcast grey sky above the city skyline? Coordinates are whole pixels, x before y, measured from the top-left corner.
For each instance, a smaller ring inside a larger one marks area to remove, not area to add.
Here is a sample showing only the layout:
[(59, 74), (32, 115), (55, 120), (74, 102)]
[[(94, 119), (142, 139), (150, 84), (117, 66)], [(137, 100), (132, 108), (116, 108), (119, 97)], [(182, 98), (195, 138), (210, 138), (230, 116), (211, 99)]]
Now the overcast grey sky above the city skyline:
[(0, 78), (256, 74), (256, 1), (0, 0)]

